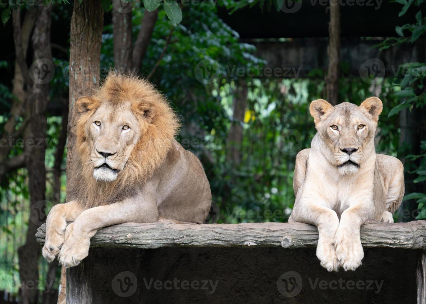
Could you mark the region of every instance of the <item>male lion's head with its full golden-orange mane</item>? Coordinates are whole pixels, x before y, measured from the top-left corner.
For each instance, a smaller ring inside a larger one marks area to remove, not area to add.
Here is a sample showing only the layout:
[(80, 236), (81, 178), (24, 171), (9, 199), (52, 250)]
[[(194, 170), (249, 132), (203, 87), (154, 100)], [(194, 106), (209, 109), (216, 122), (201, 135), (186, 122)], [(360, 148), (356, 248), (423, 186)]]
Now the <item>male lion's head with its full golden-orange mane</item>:
[(94, 96), (78, 98), (76, 107), (81, 174), (90, 181), (139, 185), (164, 161), (178, 128), (167, 100), (134, 76), (109, 73)]

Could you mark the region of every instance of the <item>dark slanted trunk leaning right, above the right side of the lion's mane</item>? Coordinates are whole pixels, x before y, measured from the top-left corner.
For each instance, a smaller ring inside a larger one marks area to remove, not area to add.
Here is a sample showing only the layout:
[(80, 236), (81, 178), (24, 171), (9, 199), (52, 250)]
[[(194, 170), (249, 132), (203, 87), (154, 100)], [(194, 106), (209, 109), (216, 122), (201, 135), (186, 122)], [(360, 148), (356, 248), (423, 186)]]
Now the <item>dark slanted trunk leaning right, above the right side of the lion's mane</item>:
[(133, 69), (136, 72), (140, 70), (142, 60), (144, 60), (145, 54), (147, 53), (154, 25), (157, 21), (157, 15), (158, 9), (152, 12), (145, 10), (144, 17), (142, 18), (141, 29), (139, 30), (138, 37), (136, 38), (132, 54)]

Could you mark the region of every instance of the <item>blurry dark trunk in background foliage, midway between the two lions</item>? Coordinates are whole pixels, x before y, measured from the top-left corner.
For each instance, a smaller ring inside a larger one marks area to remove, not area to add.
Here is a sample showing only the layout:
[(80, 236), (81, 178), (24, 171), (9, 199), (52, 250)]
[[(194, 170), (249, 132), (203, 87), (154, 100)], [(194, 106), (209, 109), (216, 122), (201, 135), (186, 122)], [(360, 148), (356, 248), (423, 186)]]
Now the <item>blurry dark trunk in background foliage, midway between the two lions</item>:
[(241, 162), (241, 145), (243, 135), (243, 122), (245, 109), (247, 108), (247, 83), (241, 79), (236, 84), (235, 95), (233, 99), (233, 115), (232, 124), (228, 133), (227, 139), (227, 159), (232, 161), (233, 164)]

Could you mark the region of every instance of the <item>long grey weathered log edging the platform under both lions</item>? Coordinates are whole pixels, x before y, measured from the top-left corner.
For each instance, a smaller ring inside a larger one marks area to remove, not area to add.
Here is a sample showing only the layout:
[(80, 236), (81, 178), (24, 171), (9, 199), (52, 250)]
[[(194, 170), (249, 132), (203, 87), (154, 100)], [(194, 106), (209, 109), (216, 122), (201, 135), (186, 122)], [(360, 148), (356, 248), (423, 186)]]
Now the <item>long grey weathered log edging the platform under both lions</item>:
[[(36, 238), (44, 243), (46, 226)], [(316, 247), (317, 227), (303, 223), (174, 224), (125, 223), (105, 227), (90, 241), (92, 247), (160, 248), (196, 247)], [(361, 227), (363, 247), (426, 249), (426, 221), (388, 224), (368, 221)]]

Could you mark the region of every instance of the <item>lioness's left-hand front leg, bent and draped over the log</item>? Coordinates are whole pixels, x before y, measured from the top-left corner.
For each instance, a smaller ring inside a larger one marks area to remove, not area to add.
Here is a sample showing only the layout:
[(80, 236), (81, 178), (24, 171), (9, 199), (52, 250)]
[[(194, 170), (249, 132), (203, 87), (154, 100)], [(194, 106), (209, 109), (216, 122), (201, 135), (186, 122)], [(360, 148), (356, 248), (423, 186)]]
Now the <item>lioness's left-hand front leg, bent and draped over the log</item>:
[(317, 257), (322, 267), (328, 271), (337, 271), (339, 262), (334, 248), (334, 239), (339, 227), (339, 218), (336, 212), (328, 207), (317, 205), (317, 203), (302, 205), (303, 207), (299, 205), (299, 208), (295, 206), (288, 222), (302, 222), (317, 226), (319, 233)]

